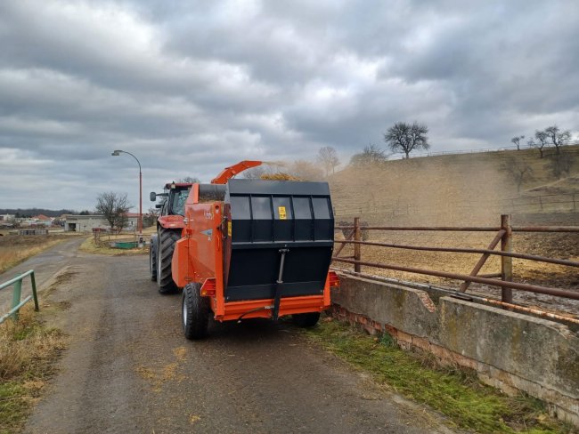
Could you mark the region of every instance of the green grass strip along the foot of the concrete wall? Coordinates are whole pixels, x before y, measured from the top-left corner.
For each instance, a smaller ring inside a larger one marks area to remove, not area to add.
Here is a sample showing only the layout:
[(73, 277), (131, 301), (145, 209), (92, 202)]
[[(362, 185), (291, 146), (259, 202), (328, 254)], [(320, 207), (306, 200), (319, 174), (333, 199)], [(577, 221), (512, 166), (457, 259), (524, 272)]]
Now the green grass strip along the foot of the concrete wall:
[(478, 382), (475, 374), (436, 366), (428, 355), (398, 348), (389, 334), (381, 338), (338, 321), (322, 321), (306, 331), (310, 341), (356, 368), (372, 374), (388, 389), (436, 409), (461, 428), (477, 432), (576, 432), (552, 419), (542, 403), (524, 395), (509, 397)]

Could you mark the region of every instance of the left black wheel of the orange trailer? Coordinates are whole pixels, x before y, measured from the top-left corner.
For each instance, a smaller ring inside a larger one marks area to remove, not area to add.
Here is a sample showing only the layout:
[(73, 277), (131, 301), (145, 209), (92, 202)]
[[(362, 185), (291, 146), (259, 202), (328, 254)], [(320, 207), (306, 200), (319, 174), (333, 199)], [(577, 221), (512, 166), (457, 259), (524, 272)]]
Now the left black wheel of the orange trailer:
[(209, 299), (201, 297), (200, 284), (187, 284), (183, 288), (181, 322), (187, 339), (201, 339), (207, 336)]

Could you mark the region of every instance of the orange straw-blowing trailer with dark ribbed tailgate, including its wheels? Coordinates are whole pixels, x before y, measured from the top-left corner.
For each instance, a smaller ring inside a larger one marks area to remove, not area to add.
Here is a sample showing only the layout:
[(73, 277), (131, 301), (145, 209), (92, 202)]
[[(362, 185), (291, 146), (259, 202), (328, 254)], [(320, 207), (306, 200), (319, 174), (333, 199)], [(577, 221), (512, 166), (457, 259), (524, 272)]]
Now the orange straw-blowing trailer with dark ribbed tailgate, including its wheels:
[(183, 331), (207, 334), (217, 321), (291, 315), (315, 325), (330, 306), (334, 217), (326, 182), (232, 179), (259, 161), (192, 184), (175, 243), (172, 277), (183, 288)]

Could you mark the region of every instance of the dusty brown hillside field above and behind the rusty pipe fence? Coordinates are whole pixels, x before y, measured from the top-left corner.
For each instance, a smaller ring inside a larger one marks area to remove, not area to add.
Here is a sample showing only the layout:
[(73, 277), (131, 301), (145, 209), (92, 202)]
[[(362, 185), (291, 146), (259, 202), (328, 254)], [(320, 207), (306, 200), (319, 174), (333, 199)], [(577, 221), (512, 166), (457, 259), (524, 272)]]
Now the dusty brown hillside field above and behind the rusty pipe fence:
[[(500, 214), (510, 213), (515, 225), (579, 225), (579, 146), (566, 150), (573, 153), (574, 161), (570, 176), (560, 180), (550, 172), (548, 156), (552, 149), (544, 158), (536, 149), (526, 149), (387, 161), (363, 170), (347, 167), (330, 178), (336, 221), (352, 224), (359, 216), (364, 223), (383, 226), (499, 226)], [(510, 157), (520, 158), (533, 170), (533, 179), (526, 181), (520, 192), (502, 170)], [(494, 234), (369, 231), (367, 237), (397, 245), (487, 248)], [(579, 234), (516, 233), (513, 251), (579, 261)], [(352, 254), (351, 246), (340, 253)], [(461, 274), (469, 274), (479, 256), (362, 246), (363, 261)], [(351, 269), (346, 264), (338, 266)], [(575, 268), (515, 259), (513, 269), (515, 281), (579, 291)], [(500, 260), (492, 257), (480, 273), (498, 271)], [(386, 269), (363, 267), (363, 272), (454, 288), (461, 283)], [(500, 290), (494, 288), (471, 288), (500, 297)], [(521, 292), (515, 292), (515, 301), (579, 315), (578, 301)]]

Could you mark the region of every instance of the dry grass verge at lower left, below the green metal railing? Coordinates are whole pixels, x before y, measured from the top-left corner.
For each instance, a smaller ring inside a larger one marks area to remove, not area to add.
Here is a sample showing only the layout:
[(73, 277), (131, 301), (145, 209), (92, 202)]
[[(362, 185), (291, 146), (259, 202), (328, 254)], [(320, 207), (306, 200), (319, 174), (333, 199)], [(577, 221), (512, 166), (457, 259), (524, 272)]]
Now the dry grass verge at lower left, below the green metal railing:
[(17, 323), (0, 325), (0, 434), (22, 430), (65, 346), (66, 337), (42, 325), (30, 304)]

